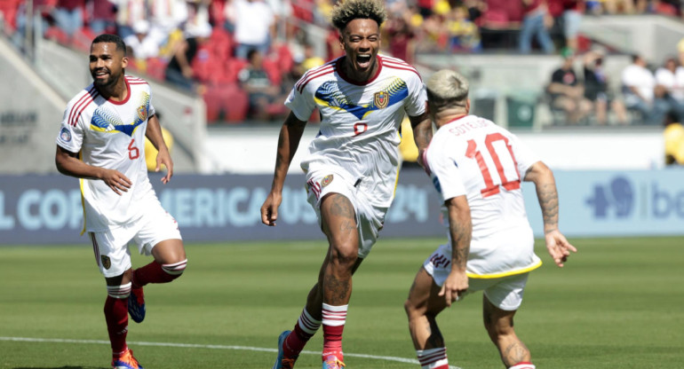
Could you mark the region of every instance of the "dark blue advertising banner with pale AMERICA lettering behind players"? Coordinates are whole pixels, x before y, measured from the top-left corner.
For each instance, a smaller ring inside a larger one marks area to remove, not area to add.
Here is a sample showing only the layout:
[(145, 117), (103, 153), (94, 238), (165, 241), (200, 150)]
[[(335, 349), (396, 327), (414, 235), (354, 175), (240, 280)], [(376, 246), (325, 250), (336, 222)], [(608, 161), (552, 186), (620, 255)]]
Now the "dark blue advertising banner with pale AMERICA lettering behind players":
[[(275, 227), (261, 224), (260, 208), (270, 175), (174, 176), (150, 181), (163, 207), (176, 218), (186, 241), (324, 239), (306, 202), (303, 175), (288, 176)], [(0, 176), (0, 244), (87, 242), (76, 178)], [(382, 237), (441, 234), (437, 193), (422, 170), (404, 170)]]

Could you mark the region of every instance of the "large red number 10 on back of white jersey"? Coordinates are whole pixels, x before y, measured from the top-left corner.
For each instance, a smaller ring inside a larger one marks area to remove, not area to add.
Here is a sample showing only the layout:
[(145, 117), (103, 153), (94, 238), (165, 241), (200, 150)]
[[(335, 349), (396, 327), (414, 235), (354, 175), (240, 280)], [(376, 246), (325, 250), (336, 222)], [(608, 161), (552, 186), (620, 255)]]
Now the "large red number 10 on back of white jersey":
[[(511, 160), (513, 162), (513, 167), (515, 168), (516, 175), (516, 177), (511, 180), (505, 177), (504, 165), (501, 163), (497, 151), (494, 149), (493, 144), (497, 141), (504, 141), (505, 147), (508, 149), (508, 153), (511, 155)], [(501, 191), (500, 186), (504, 186), (507, 191), (513, 191), (521, 188), (521, 176), (520, 172), (518, 171), (518, 162), (515, 161), (513, 148), (511, 145), (508, 145), (508, 138), (504, 137), (504, 135), (501, 133), (491, 133), (485, 137), (484, 144), (487, 146), (487, 152), (485, 154), (489, 154), (491, 161), (494, 161), (494, 165), (497, 167), (500, 185), (494, 183), (494, 180), (491, 177), (491, 172), (489, 171), (489, 168), (487, 168), (487, 163), (484, 161), (482, 152), (478, 150), (475, 140), (468, 140), (468, 148), (465, 150), (465, 156), (471, 159), (474, 158), (477, 161), (477, 164), (480, 166), (480, 171), (482, 173), (482, 177), (484, 178), (484, 185), (486, 186), (480, 191), (482, 193), (482, 197), (496, 195)]]

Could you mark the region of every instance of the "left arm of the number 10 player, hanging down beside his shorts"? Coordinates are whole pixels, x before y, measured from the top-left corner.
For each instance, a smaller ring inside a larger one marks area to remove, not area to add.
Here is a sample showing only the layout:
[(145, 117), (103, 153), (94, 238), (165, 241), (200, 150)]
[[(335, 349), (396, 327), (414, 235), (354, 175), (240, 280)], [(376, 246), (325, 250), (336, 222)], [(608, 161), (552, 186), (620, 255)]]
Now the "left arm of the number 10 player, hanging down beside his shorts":
[(451, 271), (441, 287), (440, 296), (445, 296), (447, 306), (458, 300), (458, 296), (468, 289), (468, 276), (465, 263), (468, 262), (470, 239), (473, 224), (470, 219), (470, 206), (465, 195), (451, 198), (445, 202), (449, 211), (449, 235), (451, 236)]

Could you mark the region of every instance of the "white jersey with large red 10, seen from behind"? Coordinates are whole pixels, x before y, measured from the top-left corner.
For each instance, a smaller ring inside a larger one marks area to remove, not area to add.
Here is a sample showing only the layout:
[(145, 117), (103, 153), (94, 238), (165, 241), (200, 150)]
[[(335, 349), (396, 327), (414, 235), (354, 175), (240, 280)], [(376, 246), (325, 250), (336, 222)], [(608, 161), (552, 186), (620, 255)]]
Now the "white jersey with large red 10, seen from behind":
[(540, 264), (521, 192), (522, 178), (537, 161), (518, 137), (474, 115), (434, 134), (426, 151), (433, 184), (445, 201), (465, 195), (471, 209), (469, 274), (514, 274)]

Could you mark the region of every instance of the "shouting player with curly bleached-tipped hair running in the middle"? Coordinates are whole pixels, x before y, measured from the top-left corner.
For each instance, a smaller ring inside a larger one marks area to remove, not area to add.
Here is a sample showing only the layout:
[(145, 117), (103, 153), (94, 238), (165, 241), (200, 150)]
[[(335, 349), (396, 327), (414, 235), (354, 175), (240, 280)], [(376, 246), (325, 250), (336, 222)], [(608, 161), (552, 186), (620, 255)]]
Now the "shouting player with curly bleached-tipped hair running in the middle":
[(328, 252), (318, 282), (292, 332), (278, 340), (274, 368), (291, 368), (320, 326), (322, 367), (345, 367), (342, 331), (352, 293), (352, 274), (369, 254), (394, 197), (400, 157), (398, 134), (408, 114), (419, 148), (432, 137), (425, 87), (415, 68), (378, 55), (380, 1), (346, 0), (332, 12), (345, 55), (309, 70), (295, 84), (285, 105), (274, 180), (263, 206), (262, 222), (275, 225), (282, 185), (306, 121), (318, 108), (322, 120), (301, 167), (308, 201), (314, 207)]

